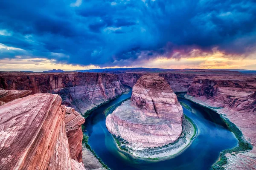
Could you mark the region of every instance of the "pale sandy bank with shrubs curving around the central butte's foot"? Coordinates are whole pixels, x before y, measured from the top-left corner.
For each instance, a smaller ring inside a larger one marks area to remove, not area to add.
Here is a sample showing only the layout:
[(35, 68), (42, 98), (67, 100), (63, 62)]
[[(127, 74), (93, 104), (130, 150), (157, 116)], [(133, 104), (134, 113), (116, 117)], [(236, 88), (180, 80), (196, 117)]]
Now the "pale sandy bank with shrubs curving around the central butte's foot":
[(113, 138), (115, 139), (118, 150), (126, 156), (130, 156), (133, 159), (163, 161), (178, 156), (186, 150), (198, 133), (198, 128), (195, 123), (186, 115), (184, 115), (183, 118), (182, 128), (181, 136), (176, 142), (161, 147), (131, 147), (129, 143), (124, 141), (122, 138), (116, 136), (113, 136)]

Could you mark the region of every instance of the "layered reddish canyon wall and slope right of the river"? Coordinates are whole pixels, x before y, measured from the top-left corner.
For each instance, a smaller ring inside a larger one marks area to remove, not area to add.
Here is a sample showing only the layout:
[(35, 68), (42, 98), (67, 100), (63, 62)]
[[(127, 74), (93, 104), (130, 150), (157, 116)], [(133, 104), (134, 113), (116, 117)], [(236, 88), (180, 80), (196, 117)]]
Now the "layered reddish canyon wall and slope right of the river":
[(227, 169), (255, 169), (256, 166), (256, 76), (197, 77), (186, 98), (212, 107), (239, 127), (253, 150), (227, 154)]

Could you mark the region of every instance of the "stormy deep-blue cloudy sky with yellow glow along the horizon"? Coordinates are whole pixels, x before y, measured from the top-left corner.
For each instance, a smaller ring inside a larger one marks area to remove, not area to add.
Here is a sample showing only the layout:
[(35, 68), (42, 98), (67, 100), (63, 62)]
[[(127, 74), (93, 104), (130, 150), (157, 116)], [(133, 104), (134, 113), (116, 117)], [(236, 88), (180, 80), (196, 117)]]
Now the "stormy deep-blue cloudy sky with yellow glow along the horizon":
[(255, 0), (0, 0), (0, 71), (256, 70)]

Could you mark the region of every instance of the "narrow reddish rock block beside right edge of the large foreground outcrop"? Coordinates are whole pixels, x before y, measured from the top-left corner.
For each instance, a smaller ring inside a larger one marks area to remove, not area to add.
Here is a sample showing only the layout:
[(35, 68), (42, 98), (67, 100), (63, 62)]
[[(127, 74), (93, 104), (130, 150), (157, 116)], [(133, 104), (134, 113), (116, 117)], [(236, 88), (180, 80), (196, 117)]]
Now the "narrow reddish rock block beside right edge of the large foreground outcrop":
[(73, 108), (62, 106), (66, 110), (65, 125), (68, 144), (70, 147), (70, 156), (72, 159), (81, 162), (82, 161), (82, 139), (83, 132), (81, 125), (85, 122), (85, 119), (80, 113)]

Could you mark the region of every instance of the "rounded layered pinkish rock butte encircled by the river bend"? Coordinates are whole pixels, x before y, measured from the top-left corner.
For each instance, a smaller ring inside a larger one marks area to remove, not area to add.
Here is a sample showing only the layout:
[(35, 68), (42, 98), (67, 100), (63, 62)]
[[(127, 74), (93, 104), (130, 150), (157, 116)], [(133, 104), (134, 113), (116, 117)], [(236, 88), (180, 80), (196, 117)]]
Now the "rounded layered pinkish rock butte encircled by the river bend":
[(107, 116), (108, 130), (134, 147), (158, 147), (175, 142), (182, 132), (183, 110), (163, 77), (143, 75), (131, 100)]

